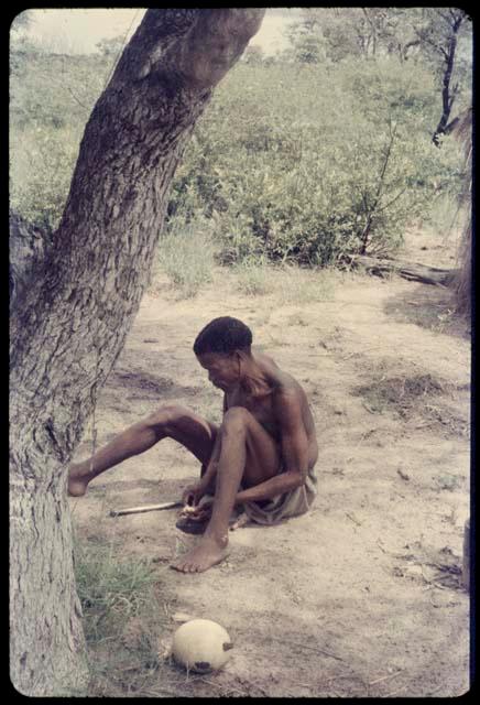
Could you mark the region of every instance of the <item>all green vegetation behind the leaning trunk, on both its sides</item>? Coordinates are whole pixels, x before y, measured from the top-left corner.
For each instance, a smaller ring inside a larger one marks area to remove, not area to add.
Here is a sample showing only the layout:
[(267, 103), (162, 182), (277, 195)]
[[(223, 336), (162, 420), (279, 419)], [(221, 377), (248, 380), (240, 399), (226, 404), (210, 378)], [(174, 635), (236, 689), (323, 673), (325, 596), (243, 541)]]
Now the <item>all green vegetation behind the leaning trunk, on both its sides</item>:
[[(11, 32), (11, 205), (53, 232), (123, 37), (68, 55), (28, 39), (31, 17)], [(170, 252), (193, 243), (186, 232), (203, 232), (223, 264), (326, 267), (391, 254), (412, 224), (445, 227), (458, 210), (469, 176), (448, 134), (471, 106), (465, 13), (304, 9), (288, 40), (270, 56), (249, 47), (196, 127), (171, 191), (174, 240), (161, 242), (176, 283), (189, 274)], [(205, 274), (190, 276), (187, 295)]]

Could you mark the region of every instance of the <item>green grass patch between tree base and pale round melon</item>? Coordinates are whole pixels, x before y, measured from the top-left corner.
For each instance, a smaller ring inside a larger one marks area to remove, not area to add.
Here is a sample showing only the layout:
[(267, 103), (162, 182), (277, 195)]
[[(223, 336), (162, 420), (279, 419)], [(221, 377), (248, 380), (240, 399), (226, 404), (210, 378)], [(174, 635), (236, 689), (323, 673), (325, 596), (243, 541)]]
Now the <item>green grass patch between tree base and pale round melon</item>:
[(155, 675), (164, 619), (152, 565), (120, 557), (112, 543), (77, 540), (75, 576), (90, 670), (87, 695), (139, 694)]

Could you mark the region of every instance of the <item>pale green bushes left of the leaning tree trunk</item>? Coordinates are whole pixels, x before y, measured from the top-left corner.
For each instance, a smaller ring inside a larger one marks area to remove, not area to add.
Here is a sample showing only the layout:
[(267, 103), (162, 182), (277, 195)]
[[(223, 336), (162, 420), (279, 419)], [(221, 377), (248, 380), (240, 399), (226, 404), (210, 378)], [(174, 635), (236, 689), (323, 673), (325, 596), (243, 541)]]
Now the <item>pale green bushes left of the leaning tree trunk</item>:
[(39, 51), (10, 57), (10, 199), (25, 219), (59, 223), (80, 139), (111, 59)]

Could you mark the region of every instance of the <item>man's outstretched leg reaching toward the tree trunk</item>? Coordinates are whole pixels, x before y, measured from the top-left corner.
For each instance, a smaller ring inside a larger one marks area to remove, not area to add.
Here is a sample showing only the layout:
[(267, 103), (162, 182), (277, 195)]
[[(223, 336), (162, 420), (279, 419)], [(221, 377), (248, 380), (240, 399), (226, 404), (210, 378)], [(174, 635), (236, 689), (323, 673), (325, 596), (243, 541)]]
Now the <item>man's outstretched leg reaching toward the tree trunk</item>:
[(217, 427), (189, 409), (176, 405), (161, 406), (146, 419), (122, 431), (110, 443), (87, 460), (74, 463), (68, 473), (68, 494), (85, 495), (88, 482), (133, 455), (151, 448), (162, 438), (173, 438), (198, 458), (205, 466), (214, 448)]

